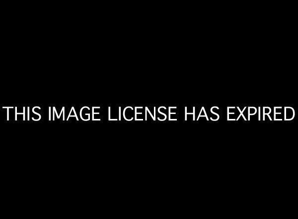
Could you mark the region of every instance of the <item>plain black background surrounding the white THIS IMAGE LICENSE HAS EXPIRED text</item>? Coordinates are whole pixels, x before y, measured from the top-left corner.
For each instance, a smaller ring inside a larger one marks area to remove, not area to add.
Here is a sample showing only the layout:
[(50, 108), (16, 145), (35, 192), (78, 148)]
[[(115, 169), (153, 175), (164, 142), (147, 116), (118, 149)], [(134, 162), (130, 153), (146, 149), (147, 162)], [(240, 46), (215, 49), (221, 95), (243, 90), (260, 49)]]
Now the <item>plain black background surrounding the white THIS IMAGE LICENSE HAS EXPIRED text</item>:
[[(28, 123), (1, 114), (5, 206), (285, 214), (296, 194), (297, 118), (227, 122), (225, 108), (297, 111), (295, 14), (123, 6), (9, 10), (1, 107), (178, 106), (179, 121)], [(219, 106), (221, 119), (186, 123), (184, 106)]]

